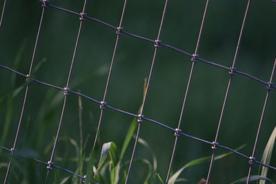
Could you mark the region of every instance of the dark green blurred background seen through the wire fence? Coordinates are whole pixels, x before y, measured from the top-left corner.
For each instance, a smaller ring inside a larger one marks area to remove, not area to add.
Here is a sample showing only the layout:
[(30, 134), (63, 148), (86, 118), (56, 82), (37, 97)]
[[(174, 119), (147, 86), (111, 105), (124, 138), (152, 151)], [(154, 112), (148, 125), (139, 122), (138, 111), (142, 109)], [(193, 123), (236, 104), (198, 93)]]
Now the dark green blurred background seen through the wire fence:
[[(83, 1), (52, 0), (50, 3), (81, 12)], [(124, 30), (150, 39), (157, 38), (164, 0), (129, 0), (124, 19)], [(173, 45), (193, 54), (201, 18), (206, 1), (171, 0), (161, 34), (162, 43)], [(244, 18), (246, 0), (210, 1), (206, 25), (199, 46), (199, 56), (221, 65), (231, 66)], [(124, 1), (88, 1), (87, 13), (111, 25), (118, 26)], [(1, 1), (0, 8), (3, 7)], [(237, 70), (268, 81), (275, 61), (275, 11), (276, 4), (266, 0), (251, 3), (244, 37), (237, 57)], [(3, 25), (0, 30), (0, 64), (28, 74), (34, 48), (41, 3), (39, 1), (8, 0)], [(72, 52), (77, 38), (79, 17), (46, 8), (37, 56), (34, 59), (34, 78), (64, 87), (66, 85)], [(71, 90), (91, 96), (98, 101), (103, 98), (106, 79), (115, 45), (115, 30), (95, 21), (83, 22), (79, 48), (72, 72)], [(121, 35), (114, 70), (110, 80), (107, 102), (115, 108), (137, 113), (143, 96), (144, 79), (148, 76), (154, 47), (152, 43)], [(41, 65), (38, 67), (38, 65)], [(161, 47), (148, 90), (144, 115), (177, 127), (184, 92), (190, 71), (190, 57), (175, 50)], [(23, 103), (25, 79), (0, 69), (0, 141), (5, 147), (12, 147), (17, 123)], [(15, 78), (14, 78), (15, 77)], [(228, 71), (206, 63), (197, 63), (193, 83), (186, 104), (182, 122), (183, 132), (201, 139), (213, 141), (221, 106), (229, 79)], [(18, 94), (14, 94), (17, 89)], [(18, 90), (19, 89), (19, 90)], [(20, 90), (21, 89), (21, 90)], [(12, 96), (13, 95), (13, 96)], [(266, 86), (236, 74), (230, 88), (224, 120), (219, 134), (219, 143), (236, 148), (247, 144), (241, 152), (250, 156), (253, 150), (257, 126), (262, 112)], [(268, 108), (264, 116), (264, 126), (259, 136), (255, 157), (260, 161), (262, 152), (275, 127), (276, 94), (271, 92)], [(99, 105), (87, 99), (83, 102), (83, 137), (88, 137), (86, 156), (90, 152), (99, 121)], [(50, 159), (52, 143), (57, 132), (61, 114), (63, 92), (47, 88), (37, 83), (30, 84), (30, 93), (25, 116), (19, 134), (17, 150), (42, 161)], [(77, 163), (70, 161), (75, 156), (75, 147), (69, 139), (79, 142), (78, 98), (68, 96), (61, 140), (57, 145), (55, 164), (75, 171)], [(101, 127), (100, 144), (114, 141), (121, 149), (124, 137), (132, 121), (131, 116), (106, 110)], [(8, 128), (4, 127), (8, 125)], [(141, 127), (141, 138), (148, 142), (158, 161), (157, 172), (166, 179), (172, 146), (173, 132), (145, 121)], [(126, 154), (130, 159), (132, 145)], [(210, 156), (210, 145), (188, 138), (179, 139), (175, 164), (172, 172), (179, 170), (188, 161)], [(225, 153), (218, 149), (217, 154)], [(138, 145), (136, 158), (151, 159), (150, 153)], [(99, 159), (99, 158), (97, 158)], [(46, 176), (46, 166), (26, 159), (15, 158), (10, 175), (10, 183), (42, 183)], [(0, 178), (6, 174), (9, 154), (1, 152)], [(275, 156), (270, 165), (276, 165)], [(206, 178), (209, 163), (190, 167), (181, 174), (187, 183), (197, 183)], [(257, 174), (258, 165), (253, 166)], [(130, 183), (142, 183), (147, 166), (135, 163), (130, 174)], [(53, 174), (57, 172), (53, 172)], [(247, 176), (248, 160), (232, 154), (216, 161), (211, 176), (212, 183), (230, 183)], [(66, 172), (58, 173), (61, 178)], [(55, 177), (55, 176), (52, 176)], [(268, 178), (276, 180), (276, 172), (270, 170)], [(158, 182), (157, 182), (158, 183)]]

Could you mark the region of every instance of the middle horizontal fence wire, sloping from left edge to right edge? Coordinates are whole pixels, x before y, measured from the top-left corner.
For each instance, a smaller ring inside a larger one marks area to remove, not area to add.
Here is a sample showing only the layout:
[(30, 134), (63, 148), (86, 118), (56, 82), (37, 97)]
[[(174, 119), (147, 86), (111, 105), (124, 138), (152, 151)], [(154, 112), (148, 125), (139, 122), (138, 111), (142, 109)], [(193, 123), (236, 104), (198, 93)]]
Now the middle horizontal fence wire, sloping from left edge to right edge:
[[(17, 72), (16, 70), (13, 70), (13, 69), (8, 68), (8, 67), (6, 67), (6, 66), (0, 65), (0, 68), (4, 68), (4, 69), (9, 70), (9, 71), (11, 71), (11, 72), (14, 72), (14, 73), (16, 73), (16, 74), (19, 74), (20, 76), (25, 76), (25, 77), (27, 78), (27, 76), (26, 76), (25, 74), (22, 74), (21, 72)], [(46, 85), (46, 86), (49, 86), (49, 87), (51, 87), (51, 88), (55, 88), (55, 89), (57, 89), (57, 90), (64, 90), (64, 88), (60, 88), (60, 87), (58, 87), (58, 86), (56, 86), (56, 85), (51, 85), (51, 84), (49, 84), (49, 83), (45, 83), (45, 82), (39, 81), (39, 80), (37, 80), (37, 79), (32, 79), (32, 81), (34, 81), (34, 82), (36, 82), (36, 83), (39, 83), (39, 84), (41, 84), (41, 85)], [(95, 103), (101, 104), (100, 101), (97, 101), (96, 99), (92, 99), (90, 96), (87, 96), (87, 95), (85, 95), (85, 94), (81, 94), (80, 92), (75, 92), (75, 91), (72, 91), (72, 90), (67, 90), (67, 91), (68, 91), (69, 93), (72, 93), (72, 94), (76, 94), (76, 95), (82, 96), (83, 98), (88, 99), (88, 100), (90, 100), (90, 101), (93, 101), (93, 102), (95, 102)], [(122, 114), (128, 114), (128, 115), (133, 116), (133, 117), (136, 117), (136, 118), (139, 117), (138, 114), (133, 114), (133, 113), (131, 113), (131, 112), (126, 112), (126, 111), (124, 111), (124, 110), (119, 110), (118, 108), (114, 108), (114, 107), (112, 107), (112, 106), (110, 106), (110, 105), (105, 105), (105, 107), (108, 108), (108, 109), (110, 109), (110, 110), (115, 110), (116, 112), (121, 112)], [(171, 130), (172, 132), (175, 132), (175, 131), (176, 131), (175, 128), (172, 128), (172, 127), (170, 127), (170, 126), (168, 126), (168, 125), (166, 125), (166, 124), (164, 124), (164, 123), (160, 123), (159, 121), (155, 121), (155, 120), (153, 120), (153, 119), (148, 119), (148, 118), (146, 118), (146, 117), (143, 117), (143, 119), (144, 119), (145, 121), (149, 121), (149, 122), (155, 123), (155, 124), (160, 125), (160, 126), (162, 126), (162, 127), (166, 127), (166, 129)], [(184, 132), (178, 132), (178, 133), (181, 134), (182, 136), (185, 136), (185, 137), (187, 137), (187, 138), (193, 139), (193, 140), (195, 140), (195, 141), (200, 141), (200, 142), (203, 142), (203, 143), (208, 143), (208, 144), (210, 144), (210, 145), (213, 145), (212, 142), (206, 141), (206, 140), (204, 140), (204, 139), (200, 139), (200, 138), (198, 138), (198, 137), (196, 137), (196, 136), (191, 136), (191, 135), (189, 135), (189, 134), (185, 134)], [(219, 144), (216, 144), (216, 146), (217, 146), (217, 147), (221, 147), (221, 148), (223, 148), (224, 150), (228, 150), (228, 151), (230, 151), (230, 152), (233, 152), (233, 153), (235, 153), (235, 154), (238, 154), (239, 156), (242, 156), (242, 157), (244, 157), (244, 158), (246, 158), (246, 159), (250, 159), (250, 156), (246, 156), (245, 154), (242, 154), (241, 152), (238, 152), (238, 151), (236, 151), (236, 150), (233, 150), (233, 149), (230, 148), (230, 147), (227, 147), (227, 146), (224, 146), (224, 145), (219, 145)], [(10, 149), (8, 149), (8, 148), (6, 148), (6, 147), (3, 147), (3, 146), (1, 146), (1, 145), (0, 145), (0, 147), (1, 147), (3, 150), (11, 151)], [(257, 164), (259, 164), (259, 165), (262, 165), (262, 166), (264, 166), (264, 167), (268, 167), (268, 168), (270, 168), (270, 169), (276, 170), (276, 167), (273, 167), (273, 166), (270, 166), (270, 165), (266, 165), (266, 164), (261, 163), (261, 162), (259, 162), (259, 161), (255, 161), (255, 163), (257, 163)], [(47, 164), (48, 164), (48, 163), (47, 163)], [(65, 171), (66, 171), (66, 170), (65, 170)]]

